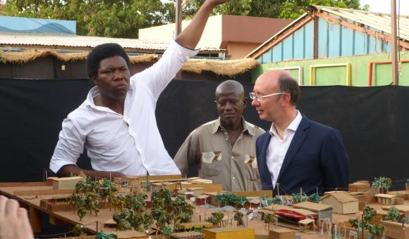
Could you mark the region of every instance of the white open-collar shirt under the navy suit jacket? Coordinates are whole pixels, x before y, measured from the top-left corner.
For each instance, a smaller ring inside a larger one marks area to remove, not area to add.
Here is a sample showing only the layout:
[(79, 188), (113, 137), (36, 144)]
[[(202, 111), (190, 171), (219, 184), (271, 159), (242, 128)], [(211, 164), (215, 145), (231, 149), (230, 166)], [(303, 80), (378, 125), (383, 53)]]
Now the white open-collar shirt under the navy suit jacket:
[(284, 157), (286, 157), (287, 150), (290, 147), (295, 131), (297, 131), (298, 125), (300, 125), (302, 119), (303, 116), (297, 110), (297, 115), (294, 120), (288, 125), (287, 129), (284, 130), (283, 139), (277, 134), (274, 123), (271, 124), (271, 129), (269, 131), (271, 140), (269, 142), (269, 148), (267, 149), (267, 168), (271, 175), (273, 187), (276, 186)]

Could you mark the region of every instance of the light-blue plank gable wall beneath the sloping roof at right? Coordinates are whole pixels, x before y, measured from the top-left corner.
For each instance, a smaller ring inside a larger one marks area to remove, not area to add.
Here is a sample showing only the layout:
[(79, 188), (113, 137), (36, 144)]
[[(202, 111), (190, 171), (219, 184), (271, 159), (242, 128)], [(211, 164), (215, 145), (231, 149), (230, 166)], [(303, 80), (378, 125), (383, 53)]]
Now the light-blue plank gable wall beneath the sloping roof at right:
[[(375, 30), (374, 28), (370, 28)], [(384, 32), (380, 32), (384, 34)], [(363, 32), (318, 18), (318, 58), (389, 53), (391, 44)], [(314, 56), (314, 22), (307, 22), (268, 52), (257, 58), (260, 63), (306, 60)]]

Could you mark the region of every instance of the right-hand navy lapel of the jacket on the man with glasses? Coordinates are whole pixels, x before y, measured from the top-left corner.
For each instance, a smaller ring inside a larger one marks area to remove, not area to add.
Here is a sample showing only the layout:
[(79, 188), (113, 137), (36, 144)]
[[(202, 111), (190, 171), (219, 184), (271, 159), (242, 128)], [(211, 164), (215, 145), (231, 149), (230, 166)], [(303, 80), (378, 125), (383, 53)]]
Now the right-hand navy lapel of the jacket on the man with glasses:
[(277, 179), (278, 183), (280, 182), (283, 173), (286, 172), (286, 168), (288, 167), (289, 164), (291, 164), (291, 161), (293, 161), (294, 156), (297, 154), (298, 150), (303, 145), (303, 142), (307, 137), (307, 134), (305, 134), (305, 129), (307, 129), (308, 127), (310, 127), (310, 122), (307, 119), (307, 117), (303, 115), (303, 120), (301, 120), (300, 124), (298, 125), (297, 131), (295, 131), (293, 140), (290, 143), (290, 147), (288, 147), (286, 157), (284, 157), (283, 165), (281, 165), (279, 178)]

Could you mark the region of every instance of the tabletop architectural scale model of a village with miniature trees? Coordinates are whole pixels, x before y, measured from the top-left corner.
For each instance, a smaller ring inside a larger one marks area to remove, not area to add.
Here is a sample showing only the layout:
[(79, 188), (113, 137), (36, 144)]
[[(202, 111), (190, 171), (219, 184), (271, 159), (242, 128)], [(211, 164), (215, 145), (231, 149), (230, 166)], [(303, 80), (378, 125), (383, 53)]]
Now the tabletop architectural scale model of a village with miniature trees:
[(379, 177), (351, 183), (348, 192), (305, 195), (301, 189), (273, 197), (271, 191), (226, 192), (211, 181), (180, 176), (87, 178), (68, 197), (44, 198), (41, 206), (72, 211), (79, 221), (108, 210), (111, 220), (102, 231), (138, 231), (141, 238), (409, 238), (409, 194), (389, 192), (391, 182)]

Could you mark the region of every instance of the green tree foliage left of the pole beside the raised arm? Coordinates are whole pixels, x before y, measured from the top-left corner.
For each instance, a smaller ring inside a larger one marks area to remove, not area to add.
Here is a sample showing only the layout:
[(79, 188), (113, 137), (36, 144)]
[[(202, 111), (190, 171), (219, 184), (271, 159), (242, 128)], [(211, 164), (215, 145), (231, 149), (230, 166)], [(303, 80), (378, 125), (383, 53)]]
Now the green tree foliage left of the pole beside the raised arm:
[(78, 35), (136, 38), (140, 28), (167, 23), (166, 6), (160, 0), (7, 0), (2, 11), (16, 17), (75, 20)]

